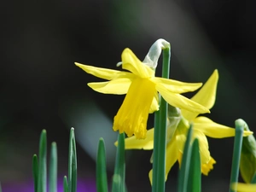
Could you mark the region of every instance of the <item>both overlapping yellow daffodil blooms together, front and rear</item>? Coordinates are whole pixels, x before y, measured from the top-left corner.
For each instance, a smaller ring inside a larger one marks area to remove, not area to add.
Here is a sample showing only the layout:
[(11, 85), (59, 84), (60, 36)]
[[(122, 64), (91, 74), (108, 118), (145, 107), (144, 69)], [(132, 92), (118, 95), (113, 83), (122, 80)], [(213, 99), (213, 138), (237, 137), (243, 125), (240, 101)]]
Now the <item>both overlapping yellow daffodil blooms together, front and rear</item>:
[[(146, 61), (150, 61), (150, 58), (146, 58)], [(126, 71), (75, 64), (86, 73), (107, 80), (89, 83), (93, 90), (104, 94), (126, 94), (124, 102), (113, 119), (113, 131), (125, 132), (128, 136), (125, 139), (125, 149), (151, 150), (154, 148), (154, 128), (147, 131), (147, 121), (148, 113), (159, 110), (160, 94), (169, 105), (180, 110), (180, 120), (175, 127), (176, 130), (174, 131), (173, 127), (167, 127), (166, 178), (174, 163), (176, 161), (181, 163), (189, 124), (193, 124), (192, 139), (199, 140), (201, 172), (208, 175), (216, 161), (210, 155), (207, 137), (235, 136), (235, 129), (199, 116), (201, 113), (209, 113), (215, 103), (218, 70), (212, 73), (207, 83), (195, 96), (188, 99), (180, 94), (199, 89), (201, 83), (191, 84), (155, 77), (154, 67), (152, 67), (155, 63), (151, 65), (140, 61), (131, 49), (125, 49), (121, 59), (122, 68)], [(154, 56), (154, 60), (157, 61), (158, 56)], [(244, 136), (250, 134), (252, 134), (251, 131), (244, 131)], [(152, 180), (152, 170), (149, 172), (149, 178)]]

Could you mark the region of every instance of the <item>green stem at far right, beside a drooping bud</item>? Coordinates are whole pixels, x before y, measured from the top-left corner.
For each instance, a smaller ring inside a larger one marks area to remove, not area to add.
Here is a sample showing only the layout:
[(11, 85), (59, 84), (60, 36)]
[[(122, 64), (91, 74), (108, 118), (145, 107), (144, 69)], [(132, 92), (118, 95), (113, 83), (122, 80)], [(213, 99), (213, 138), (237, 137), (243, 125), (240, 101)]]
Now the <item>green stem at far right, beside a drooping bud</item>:
[[(232, 185), (232, 183), (238, 182), (244, 121), (242, 121), (241, 119), (237, 119), (235, 122), (235, 125), (236, 125), (236, 136), (235, 136), (235, 143), (234, 143), (234, 150), (233, 150), (230, 186)], [(236, 192), (236, 189), (233, 190), (230, 188), (230, 192)]]

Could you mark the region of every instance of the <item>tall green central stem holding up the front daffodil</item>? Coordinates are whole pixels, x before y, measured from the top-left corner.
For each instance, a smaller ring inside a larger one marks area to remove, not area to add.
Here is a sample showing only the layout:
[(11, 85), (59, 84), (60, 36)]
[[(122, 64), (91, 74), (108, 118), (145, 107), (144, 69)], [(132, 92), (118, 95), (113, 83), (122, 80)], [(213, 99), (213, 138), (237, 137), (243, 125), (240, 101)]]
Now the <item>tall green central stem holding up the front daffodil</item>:
[[(163, 49), (162, 78), (169, 79), (171, 50)], [(160, 98), (160, 110), (154, 113), (154, 159), (153, 159), (153, 192), (165, 191), (166, 178), (166, 119), (167, 103)]]

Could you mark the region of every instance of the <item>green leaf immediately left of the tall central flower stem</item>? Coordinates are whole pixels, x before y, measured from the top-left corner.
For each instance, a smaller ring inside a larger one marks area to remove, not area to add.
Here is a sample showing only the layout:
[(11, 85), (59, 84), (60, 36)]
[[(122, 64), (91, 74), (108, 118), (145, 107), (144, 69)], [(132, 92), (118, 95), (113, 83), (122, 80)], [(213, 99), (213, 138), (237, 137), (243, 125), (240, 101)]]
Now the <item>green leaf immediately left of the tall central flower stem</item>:
[(119, 134), (112, 192), (125, 192), (125, 133)]

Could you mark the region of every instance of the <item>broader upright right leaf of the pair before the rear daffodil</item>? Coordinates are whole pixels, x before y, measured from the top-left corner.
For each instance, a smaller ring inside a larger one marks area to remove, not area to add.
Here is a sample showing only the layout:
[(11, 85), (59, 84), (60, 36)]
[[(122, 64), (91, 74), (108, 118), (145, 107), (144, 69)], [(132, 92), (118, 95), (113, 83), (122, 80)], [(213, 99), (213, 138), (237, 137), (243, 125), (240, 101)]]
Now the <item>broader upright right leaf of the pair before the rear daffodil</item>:
[(201, 192), (201, 159), (197, 138), (195, 138), (192, 144), (188, 182), (188, 192)]

